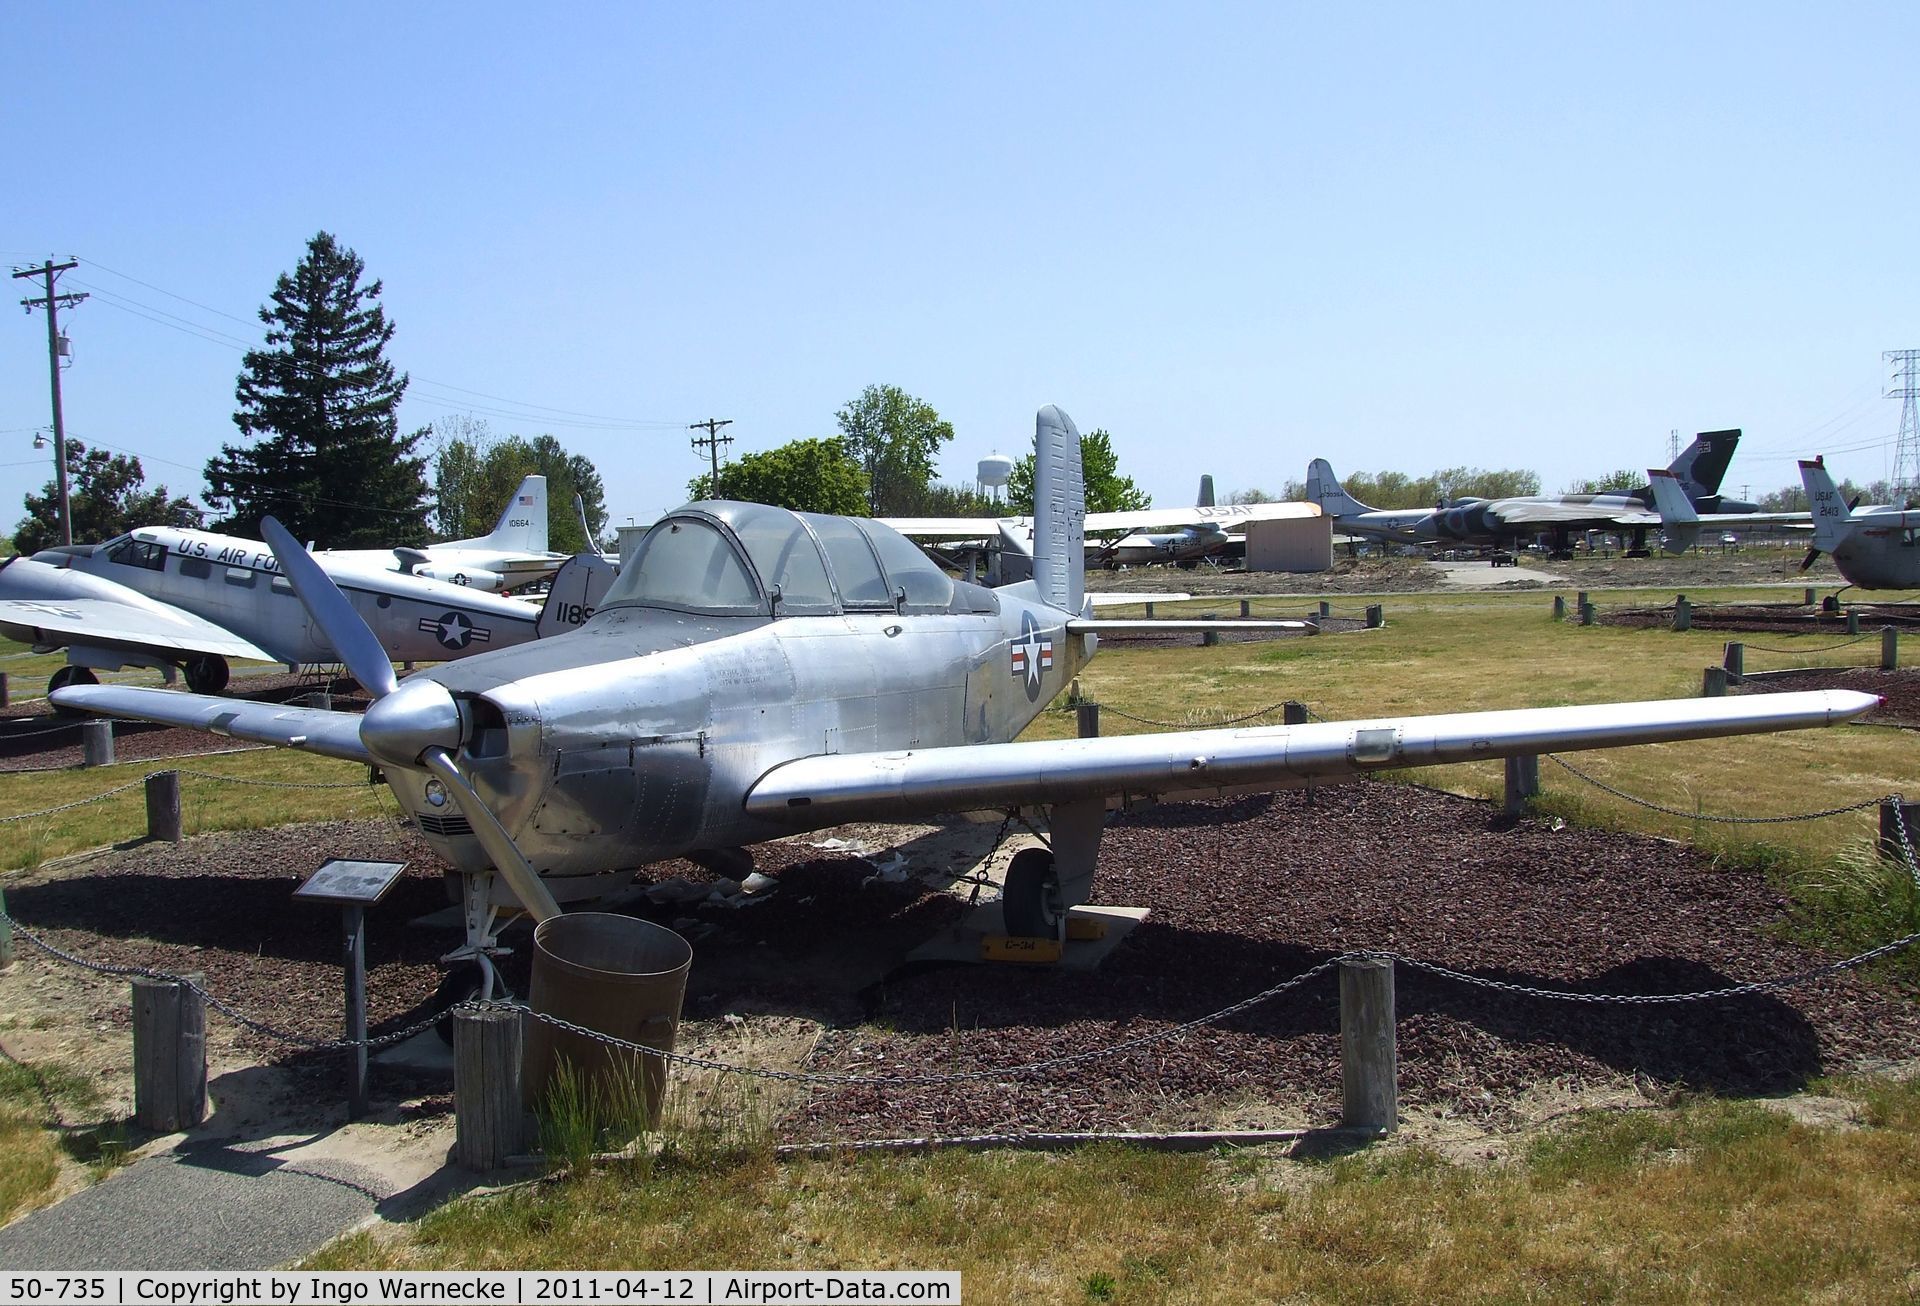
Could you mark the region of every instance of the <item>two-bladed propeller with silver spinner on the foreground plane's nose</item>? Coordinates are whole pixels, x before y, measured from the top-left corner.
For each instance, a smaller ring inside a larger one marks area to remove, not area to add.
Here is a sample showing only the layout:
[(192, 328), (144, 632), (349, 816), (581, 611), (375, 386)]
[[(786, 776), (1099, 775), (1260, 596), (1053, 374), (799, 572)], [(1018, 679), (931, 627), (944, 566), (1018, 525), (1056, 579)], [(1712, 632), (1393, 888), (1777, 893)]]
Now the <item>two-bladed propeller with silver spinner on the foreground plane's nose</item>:
[(259, 530), (307, 615), (340, 653), (340, 661), (346, 663), (353, 678), (367, 686), (374, 699), (367, 714), (361, 716), (361, 743), (367, 745), (367, 751), (386, 766), (426, 770), (445, 784), (457, 795), (474, 839), (493, 859), (493, 868), (513, 885), (520, 905), (536, 922), (559, 916), (561, 907), (547, 893), (547, 885), (540, 882), (532, 862), (526, 860), (513, 835), (507, 834), (507, 826), (480, 799), (472, 782), (453, 761), (453, 749), (467, 738), (467, 714), (461, 705), (453, 701), (445, 686), (434, 680), (399, 684), (380, 640), (340, 593), (332, 576), (321, 570), (307, 549), (300, 547), (300, 540), (273, 517), (261, 519)]

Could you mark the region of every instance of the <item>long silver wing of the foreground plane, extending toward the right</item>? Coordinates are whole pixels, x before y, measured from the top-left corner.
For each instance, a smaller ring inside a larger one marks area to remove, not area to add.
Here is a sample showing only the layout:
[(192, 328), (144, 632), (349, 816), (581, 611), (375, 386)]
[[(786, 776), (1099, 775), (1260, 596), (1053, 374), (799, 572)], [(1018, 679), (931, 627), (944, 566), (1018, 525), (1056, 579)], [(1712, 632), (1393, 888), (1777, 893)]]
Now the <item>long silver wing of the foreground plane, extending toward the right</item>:
[(1286, 789), (1388, 766), (1832, 726), (1878, 703), (1872, 693), (1818, 689), (839, 753), (772, 768), (747, 793), (747, 810), (770, 820), (804, 810), (806, 824), (820, 826), (1081, 799)]

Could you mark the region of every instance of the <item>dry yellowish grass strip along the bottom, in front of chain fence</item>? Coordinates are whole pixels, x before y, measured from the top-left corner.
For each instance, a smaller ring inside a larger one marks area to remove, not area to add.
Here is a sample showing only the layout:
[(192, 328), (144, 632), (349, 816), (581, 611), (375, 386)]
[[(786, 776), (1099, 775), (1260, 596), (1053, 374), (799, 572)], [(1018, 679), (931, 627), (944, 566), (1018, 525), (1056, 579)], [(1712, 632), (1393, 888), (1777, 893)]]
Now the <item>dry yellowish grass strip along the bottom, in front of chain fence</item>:
[(1920, 1089), (1860, 1125), (1743, 1102), (1592, 1114), (1501, 1166), (1417, 1145), (843, 1158), (470, 1198), (311, 1268), (960, 1270), (970, 1300), (1908, 1300)]

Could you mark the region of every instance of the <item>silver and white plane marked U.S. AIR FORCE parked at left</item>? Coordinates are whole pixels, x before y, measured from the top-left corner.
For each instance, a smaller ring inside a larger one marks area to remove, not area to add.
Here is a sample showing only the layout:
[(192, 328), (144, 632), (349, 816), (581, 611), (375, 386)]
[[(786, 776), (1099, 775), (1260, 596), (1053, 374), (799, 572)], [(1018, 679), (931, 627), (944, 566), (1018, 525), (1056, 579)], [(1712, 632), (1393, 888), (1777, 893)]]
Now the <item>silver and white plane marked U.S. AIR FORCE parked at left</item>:
[[(338, 557), (323, 563), (392, 661), (442, 663), (578, 626), (607, 588), (584, 565), (555, 580), (545, 607)], [(142, 526), (106, 544), (0, 561), (0, 634), (67, 651), (48, 689), (92, 684), (100, 670), (184, 672), (219, 693), (228, 659), (340, 663), (257, 540)]]

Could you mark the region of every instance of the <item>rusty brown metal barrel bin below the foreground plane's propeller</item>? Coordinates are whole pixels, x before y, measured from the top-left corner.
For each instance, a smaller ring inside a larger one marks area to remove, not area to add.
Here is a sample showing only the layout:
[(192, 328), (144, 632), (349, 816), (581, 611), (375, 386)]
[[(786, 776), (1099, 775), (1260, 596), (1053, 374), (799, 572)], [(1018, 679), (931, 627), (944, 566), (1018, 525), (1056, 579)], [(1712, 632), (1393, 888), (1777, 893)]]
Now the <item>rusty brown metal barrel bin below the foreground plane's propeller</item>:
[(645, 1089), (647, 1124), (660, 1120), (666, 1058), (616, 1049), (540, 1016), (614, 1039), (672, 1051), (687, 993), (693, 947), (664, 926), (611, 912), (568, 912), (534, 928), (520, 1100), (538, 1106), (564, 1058), (589, 1085), (616, 1091), (630, 1077)]

